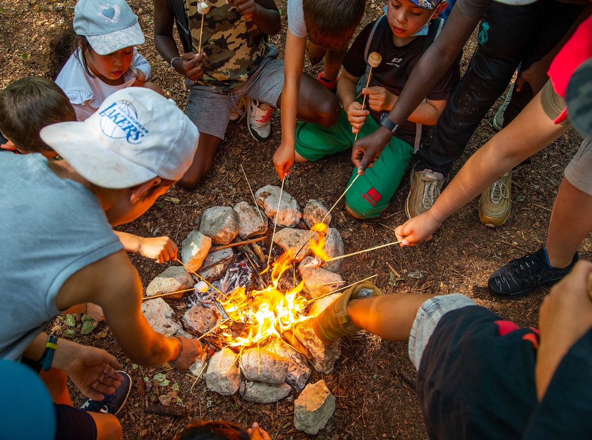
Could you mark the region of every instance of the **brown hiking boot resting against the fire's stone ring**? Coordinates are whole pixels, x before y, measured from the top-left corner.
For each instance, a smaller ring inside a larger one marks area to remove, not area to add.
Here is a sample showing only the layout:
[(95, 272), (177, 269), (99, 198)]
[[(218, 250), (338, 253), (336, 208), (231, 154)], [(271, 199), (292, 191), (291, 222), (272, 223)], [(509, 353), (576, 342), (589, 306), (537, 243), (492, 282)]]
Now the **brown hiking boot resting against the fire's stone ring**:
[(325, 344), (330, 344), (346, 335), (360, 331), (361, 328), (353, 325), (353, 322), (349, 319), (349, 300), (379, 295), (382, 295), (382, 290), (378, 289), (374, 284), (365, 283), (350, 287), (313, 319), (314, 333)]

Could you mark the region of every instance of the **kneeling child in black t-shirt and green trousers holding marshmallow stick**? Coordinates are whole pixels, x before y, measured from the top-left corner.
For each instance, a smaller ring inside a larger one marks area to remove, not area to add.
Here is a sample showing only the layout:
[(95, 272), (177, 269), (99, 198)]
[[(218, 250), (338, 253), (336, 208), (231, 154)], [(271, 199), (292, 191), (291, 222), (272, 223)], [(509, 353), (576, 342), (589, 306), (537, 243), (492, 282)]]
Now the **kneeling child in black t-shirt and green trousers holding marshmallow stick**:
[[(413, 67), (436, 38), (443, 21), (437, 16), (448, 2), (438, 0), (390, 0), (386, 15), (368, 24), (356, 37), (343, 59), (344, 70), (337, 84), (343, 103), (341, 117), (331, 127), (301, 122), (296, 131), (297, 162), (316, 161), (353, 145), (356, 133), (363, 137), (375, 131), (381, 116), (388, 114)], [(436, 18), (435, 18), (436, 17)], [(431, 19), (431, 21), (430, 21)], [(382, 62), (372, 69), (366, 95), (369, 111), (356, 97), (356, 85), (366, 73), (368, 56), (373, 51)], [(422, 125), (435, 125), (446, 101), (459, 80), (458, 61), (427, 95), (401, 130), (392, 137), (371, 169), (356, 180), (346, 193), (348, 212), (356, 218), (373, 218), (387, 209), (388, 202), (407, 168), (414, 148), (422, 140)], [(371, 115), (370, 118), (366, 118)], [(352, 180), (358, 175), (354, 170)]]

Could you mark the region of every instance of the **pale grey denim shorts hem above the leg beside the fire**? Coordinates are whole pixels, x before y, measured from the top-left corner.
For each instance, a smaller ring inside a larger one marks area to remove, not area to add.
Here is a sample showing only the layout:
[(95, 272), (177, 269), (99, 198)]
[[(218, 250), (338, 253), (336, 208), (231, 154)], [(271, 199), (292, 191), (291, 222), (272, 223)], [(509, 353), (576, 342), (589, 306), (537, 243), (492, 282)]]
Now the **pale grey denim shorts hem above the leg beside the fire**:
[(409, 358), (417, 370), (419, 370), (423, 350), (426, 348), (427, 342), (436, 329), (440, 318), (446, 313), (452, 312), (452, 310), (476, 305), (477, 303), (474, 300), (461, 293), (435, 296), (423, 303), (417, 310), (411, 328), (411, 335), (409, 336)]

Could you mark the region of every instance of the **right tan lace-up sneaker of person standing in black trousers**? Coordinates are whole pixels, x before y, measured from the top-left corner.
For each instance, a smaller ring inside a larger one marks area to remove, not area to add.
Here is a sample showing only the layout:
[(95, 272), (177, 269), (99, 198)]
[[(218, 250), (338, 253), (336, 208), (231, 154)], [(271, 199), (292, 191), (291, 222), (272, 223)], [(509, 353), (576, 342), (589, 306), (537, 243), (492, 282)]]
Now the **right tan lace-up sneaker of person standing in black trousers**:
[(481, 193), (479, 218), (490, 228), (502, 225), (510, 215), (512, 172), (504, 174)]

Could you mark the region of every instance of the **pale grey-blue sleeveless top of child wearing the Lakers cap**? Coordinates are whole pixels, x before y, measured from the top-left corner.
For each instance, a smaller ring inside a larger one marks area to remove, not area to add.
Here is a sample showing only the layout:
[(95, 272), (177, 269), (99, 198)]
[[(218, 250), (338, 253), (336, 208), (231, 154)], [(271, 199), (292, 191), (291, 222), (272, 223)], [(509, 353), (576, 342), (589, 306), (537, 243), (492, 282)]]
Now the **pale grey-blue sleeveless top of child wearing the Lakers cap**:
[(0, 358), (18, 361), (60, 313), (63, 283), (123, 245), (99, 199), (41, 154), (2, 154), (0, 206)]

